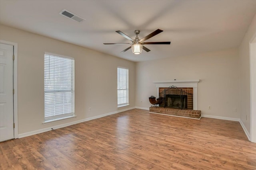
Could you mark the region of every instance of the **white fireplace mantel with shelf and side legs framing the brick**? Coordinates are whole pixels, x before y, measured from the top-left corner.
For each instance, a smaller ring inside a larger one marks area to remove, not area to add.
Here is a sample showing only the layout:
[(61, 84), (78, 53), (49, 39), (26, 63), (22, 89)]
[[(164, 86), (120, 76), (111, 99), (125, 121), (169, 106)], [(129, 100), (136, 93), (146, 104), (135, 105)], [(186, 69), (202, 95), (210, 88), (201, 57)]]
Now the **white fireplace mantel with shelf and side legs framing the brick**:
[(197, 110), (197, 84), (200, 80), (167, 80), (153, 82), (156, 84), (156, 98), (159, 98), (159, 88), (168, 88), (170, 86), (176, 86), (178, 88), (193, 88), (193, 109)]

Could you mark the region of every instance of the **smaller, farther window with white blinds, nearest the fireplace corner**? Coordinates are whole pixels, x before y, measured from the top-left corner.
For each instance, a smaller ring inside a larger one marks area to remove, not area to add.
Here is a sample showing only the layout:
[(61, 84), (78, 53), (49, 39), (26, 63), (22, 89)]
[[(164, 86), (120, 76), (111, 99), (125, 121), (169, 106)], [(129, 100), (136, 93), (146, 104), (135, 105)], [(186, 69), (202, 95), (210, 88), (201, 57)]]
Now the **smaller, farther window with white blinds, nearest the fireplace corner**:
[(128, 69), (117, 68), (117, 107), (129, 104)]

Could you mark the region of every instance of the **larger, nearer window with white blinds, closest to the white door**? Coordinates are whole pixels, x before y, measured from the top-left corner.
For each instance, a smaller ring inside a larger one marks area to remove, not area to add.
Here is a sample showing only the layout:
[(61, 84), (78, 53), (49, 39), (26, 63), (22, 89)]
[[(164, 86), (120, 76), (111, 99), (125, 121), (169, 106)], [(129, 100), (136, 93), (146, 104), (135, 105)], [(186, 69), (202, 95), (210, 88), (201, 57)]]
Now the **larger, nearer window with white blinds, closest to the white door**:
[(44, 54), (44, 120), (74, 116), (74, 59)]

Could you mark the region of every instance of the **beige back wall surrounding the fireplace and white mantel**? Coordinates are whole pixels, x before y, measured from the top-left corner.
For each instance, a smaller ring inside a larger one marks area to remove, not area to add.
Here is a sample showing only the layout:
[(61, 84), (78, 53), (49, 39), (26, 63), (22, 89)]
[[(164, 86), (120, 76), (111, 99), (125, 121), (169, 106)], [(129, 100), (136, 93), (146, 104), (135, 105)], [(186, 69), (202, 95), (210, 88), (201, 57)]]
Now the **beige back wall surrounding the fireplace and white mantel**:
[(136, 106), (151, 106), (148, 97), (156, 95), (154, 81), (174, 79), (200, 80), (198, 110), (202, 115), (240, 118), (237, 49), (137, 63)]

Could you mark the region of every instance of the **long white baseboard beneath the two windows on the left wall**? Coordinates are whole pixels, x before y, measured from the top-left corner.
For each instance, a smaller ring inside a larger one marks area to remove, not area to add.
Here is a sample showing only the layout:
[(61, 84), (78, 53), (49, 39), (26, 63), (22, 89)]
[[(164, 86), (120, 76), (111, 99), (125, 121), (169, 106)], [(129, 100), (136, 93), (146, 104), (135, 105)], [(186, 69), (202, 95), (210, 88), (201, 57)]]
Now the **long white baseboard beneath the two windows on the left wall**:
[(78, 120), (78, 121), (72, 121), (72, 122), (69, 122), (69, 123), (61, 124), (61, 125), (47, 127), (47, 128), (39, 129), (39, 130), (36, 130), (36, 131), (21, 133), (21, 134), (18, 135), (18, 138), (27, 137), (27, 136), (31, 136), (31, 135), (36, 135), (38, 133), (43, 133), (43, 132), (51, 131), (52, 129), (59, 129), (59, 128), (62, 128), (62, 127), (67, 127), (67, 126), (70, 126), (70, 125), (75, 125), (77, 123), (82, 123), (82, 122), (85, 122), (85, 121), (89, 121), (89, 120), (93, 120), (93, 119), (98, 119), (100, 117), (105, 117), (105, 116), (108, 116), (108, 115), (113, 115), (113, 114), (120, 113), (120, 112), (123, 112), (123, 111), (131, 110), (131, 109), (135, 109), (135, 107), (130, 107), (130, 108), (127, 108), (127, 109), (122, 109), (122, 110), (106, 113), (106, 114), (103, 114), (103, 115), (89, 117), (89, 118), (81, 119), (81, 120)]

